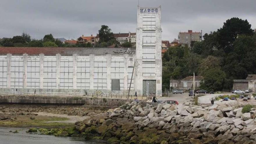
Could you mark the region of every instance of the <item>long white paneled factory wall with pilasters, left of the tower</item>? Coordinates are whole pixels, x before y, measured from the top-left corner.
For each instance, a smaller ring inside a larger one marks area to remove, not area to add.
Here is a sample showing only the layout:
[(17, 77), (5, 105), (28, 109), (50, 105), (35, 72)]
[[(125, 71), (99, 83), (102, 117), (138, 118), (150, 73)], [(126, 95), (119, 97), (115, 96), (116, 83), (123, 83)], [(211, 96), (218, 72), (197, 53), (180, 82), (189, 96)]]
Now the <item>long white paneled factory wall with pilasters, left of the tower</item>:
[[(104, 94), (127, 95), (133, 59), (132, 54), (86, 56), (7, 54), (0, 59), (0, 67), (4, 67), (5, 72), (1, 78), (3, 82), (0, 84), (0, 92), (36, 90), (36, 92), (95, 93), (96, 90), (100, 90)], [(111, 79), (120, 79), (120, 91), (111, 90)], [(135, 93), (134, 82), (132, 83), (131, 95)]]

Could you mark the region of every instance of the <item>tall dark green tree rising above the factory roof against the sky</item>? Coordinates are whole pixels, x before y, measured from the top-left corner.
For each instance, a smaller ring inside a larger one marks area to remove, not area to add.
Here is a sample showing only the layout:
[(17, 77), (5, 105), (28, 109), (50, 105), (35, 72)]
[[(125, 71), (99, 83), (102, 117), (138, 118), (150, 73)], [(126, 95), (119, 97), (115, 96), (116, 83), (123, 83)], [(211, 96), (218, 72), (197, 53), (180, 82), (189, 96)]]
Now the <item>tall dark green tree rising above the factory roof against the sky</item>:
[(109, 42), (111, 39), (114, 39), (114, 34), (111, 32), (109, 26), (102, 25), (99, 30), (99, 43)]

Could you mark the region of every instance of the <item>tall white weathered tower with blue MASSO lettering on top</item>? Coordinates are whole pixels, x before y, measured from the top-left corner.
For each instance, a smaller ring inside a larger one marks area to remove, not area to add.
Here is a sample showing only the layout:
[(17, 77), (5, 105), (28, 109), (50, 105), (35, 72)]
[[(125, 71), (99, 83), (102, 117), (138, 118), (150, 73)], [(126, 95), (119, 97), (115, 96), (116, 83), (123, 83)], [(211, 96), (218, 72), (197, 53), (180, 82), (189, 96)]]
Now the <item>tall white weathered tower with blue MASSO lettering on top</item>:
[(138, 6), (135, 90), (138, 95), (162, 95), (161, 6)]

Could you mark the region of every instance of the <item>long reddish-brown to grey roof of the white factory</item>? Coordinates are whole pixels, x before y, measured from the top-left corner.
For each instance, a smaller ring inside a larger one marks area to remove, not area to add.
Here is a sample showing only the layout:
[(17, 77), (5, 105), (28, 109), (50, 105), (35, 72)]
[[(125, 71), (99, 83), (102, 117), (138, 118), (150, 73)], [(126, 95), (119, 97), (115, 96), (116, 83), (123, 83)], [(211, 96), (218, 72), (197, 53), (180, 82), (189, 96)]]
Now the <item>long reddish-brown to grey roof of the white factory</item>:
[(135, 53), (135, 48), (103, 48), (103, 47), (0, 47), (0, 54), (45, 54), (45, 55), (123, 55)]

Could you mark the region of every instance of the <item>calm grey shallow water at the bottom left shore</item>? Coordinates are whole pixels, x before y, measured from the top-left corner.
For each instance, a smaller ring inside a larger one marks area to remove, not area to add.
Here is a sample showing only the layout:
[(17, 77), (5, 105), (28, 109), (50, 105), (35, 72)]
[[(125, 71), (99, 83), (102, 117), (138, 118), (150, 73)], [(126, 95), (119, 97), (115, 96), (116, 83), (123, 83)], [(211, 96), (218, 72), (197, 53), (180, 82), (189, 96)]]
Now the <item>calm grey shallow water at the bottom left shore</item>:
[[(19, 133), (9, 131), (18, 130)], [(85, 141), (83, 138), (56, 137), (26, 133), (26, 128), (0, 127), (1, 144), (105, 144), (104, 141)]]

